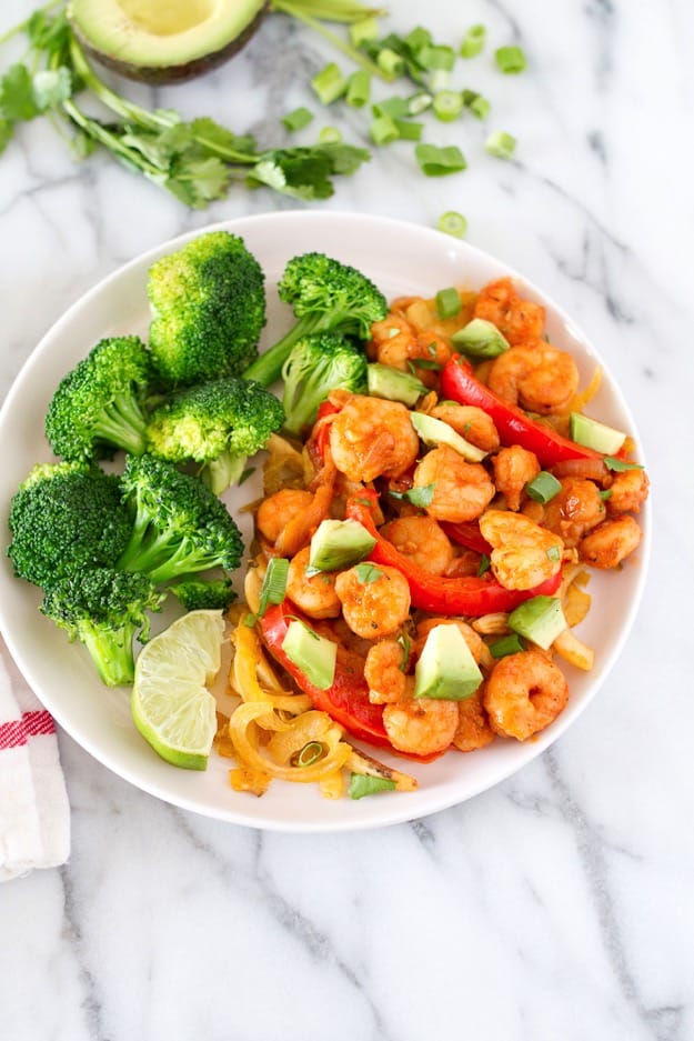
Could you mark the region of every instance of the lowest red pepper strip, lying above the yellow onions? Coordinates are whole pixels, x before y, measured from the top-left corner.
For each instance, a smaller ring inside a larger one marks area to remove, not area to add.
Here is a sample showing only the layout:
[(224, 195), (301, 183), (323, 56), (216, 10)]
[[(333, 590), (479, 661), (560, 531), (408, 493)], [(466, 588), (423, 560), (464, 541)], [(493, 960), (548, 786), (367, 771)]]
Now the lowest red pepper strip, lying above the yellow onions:
[(369, 685), (359, 658), (338, 644), (338, 660), (332, 685), (328, 690), (321, 690), (314, 687), (305, 672), (286, 657), (282, 644), (289, 623), (294, 618), (300, 618), (296, 609), (285, 602), (269, 607), (260, 620), (262, 639), (272, 657), (311, 698), (314, 708), (328, 712), (359, 740), (392, 750), (383, 725), (383, 705), (372, 704), (369, 701)]

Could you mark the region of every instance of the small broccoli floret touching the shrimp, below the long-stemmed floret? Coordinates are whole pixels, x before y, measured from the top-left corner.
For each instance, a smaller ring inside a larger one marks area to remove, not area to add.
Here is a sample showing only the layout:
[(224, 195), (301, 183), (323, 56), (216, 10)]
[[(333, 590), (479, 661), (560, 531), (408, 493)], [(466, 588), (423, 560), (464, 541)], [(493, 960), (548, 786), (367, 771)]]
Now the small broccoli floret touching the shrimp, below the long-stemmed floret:
[(282, 369), (286, 432), (298, 437), (311, 427), (331, 390), (365, 393), (366, 364), (363, 350), (335, 332), (319, 332), (294, 343)]

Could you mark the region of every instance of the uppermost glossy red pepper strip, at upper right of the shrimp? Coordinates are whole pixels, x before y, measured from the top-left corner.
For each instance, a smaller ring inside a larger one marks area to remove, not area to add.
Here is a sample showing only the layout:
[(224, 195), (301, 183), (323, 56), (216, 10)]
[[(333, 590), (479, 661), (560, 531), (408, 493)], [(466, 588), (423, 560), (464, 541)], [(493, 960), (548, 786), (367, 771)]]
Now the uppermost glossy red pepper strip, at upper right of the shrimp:
[(461, 404), (474, 404), (493, 420), (502, 444), (520, 444), (534, 452), (543, 467), (553, 467), (566, 459), (602, 459), (592, 448), (562, 437), (552, 427), (530, 419), (522, 409), (475, 379), (472, 367), (460, 354), (453, 354), (441, 372), (441, 397)]

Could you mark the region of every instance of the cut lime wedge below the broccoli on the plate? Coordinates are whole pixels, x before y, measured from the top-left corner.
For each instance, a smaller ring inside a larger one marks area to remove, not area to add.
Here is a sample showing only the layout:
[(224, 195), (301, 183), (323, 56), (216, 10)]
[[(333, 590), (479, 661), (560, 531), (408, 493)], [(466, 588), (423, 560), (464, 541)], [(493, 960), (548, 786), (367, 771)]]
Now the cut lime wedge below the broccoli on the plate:
[(220, 669), (221, 611), (190, 611), (145, 643), (135, 661), (134, 724), (162, 759), (204, 770), (217, 731), (208, 683)]

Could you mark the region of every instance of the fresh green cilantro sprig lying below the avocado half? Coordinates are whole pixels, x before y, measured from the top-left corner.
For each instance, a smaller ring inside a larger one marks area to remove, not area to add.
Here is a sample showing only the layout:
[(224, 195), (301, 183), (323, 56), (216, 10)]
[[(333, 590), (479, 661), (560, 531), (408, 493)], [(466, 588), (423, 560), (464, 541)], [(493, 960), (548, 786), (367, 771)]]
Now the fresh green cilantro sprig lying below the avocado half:
[[(185, 121), (172, 109), (145, 109), (111, 90), (94, 72), (56, 3), (36, 11), (0, 40), (23, 32), (22, 61), (0, 79), (0, 153), (18, 124), (50, 117), (76, 158), (97, 149), (165, 188), (192, 209), (223, 199), (232, 186), (263, 186), (295, 199), (328, 199), (333, 178), (353, 173), (370, 158), (366, 149), (342, 142), (259, 149), (213, 119)], [(89, 114), (95, 99), (112, 118)]]

